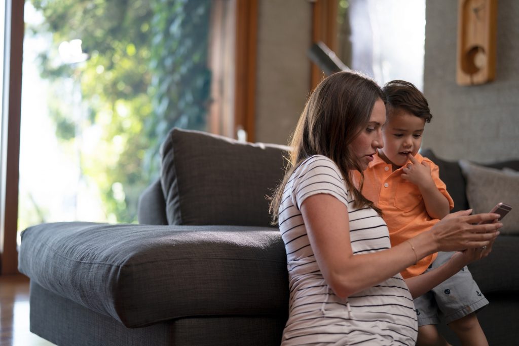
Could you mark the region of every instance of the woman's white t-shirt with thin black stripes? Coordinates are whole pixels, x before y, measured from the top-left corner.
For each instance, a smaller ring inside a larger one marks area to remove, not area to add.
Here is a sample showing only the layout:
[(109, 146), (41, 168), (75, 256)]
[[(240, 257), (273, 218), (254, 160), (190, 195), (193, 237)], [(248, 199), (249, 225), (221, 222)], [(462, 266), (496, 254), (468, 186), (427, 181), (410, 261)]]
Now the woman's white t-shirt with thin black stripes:
[(289, 320), (282, 345), (414, 345), (416, 313), (400, 274), (345, 299), (326, 284), (299, 211), (305, 198), (319, 193), (330, 194), (347, 206), (354, 255), (391, 247), (384, 220), (371, 208), (353, 207), (331, 159), (315, 155), (299, 165), (279, 207), (290, 280)]

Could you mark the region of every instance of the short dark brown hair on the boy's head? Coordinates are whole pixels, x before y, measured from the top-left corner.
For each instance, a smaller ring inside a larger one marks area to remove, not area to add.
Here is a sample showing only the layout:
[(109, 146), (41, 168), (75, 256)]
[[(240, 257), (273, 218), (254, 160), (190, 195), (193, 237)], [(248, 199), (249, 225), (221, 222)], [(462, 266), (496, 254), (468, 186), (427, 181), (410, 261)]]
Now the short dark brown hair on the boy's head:
[(431, 122), (432, 114), (424, 94), (413, 83), (391, 81), (382, 88), (386, 95), (386, 115), (403, 110)]

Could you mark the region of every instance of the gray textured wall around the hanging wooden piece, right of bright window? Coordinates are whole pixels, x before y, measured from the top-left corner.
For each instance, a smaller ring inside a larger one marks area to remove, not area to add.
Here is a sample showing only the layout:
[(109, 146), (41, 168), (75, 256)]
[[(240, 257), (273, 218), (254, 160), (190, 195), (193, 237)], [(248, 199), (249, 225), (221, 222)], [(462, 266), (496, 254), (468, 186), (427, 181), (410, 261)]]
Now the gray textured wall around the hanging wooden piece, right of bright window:
[(424, 92), (433, 119), (424, 148), (446, 159), (519, 158), (519, 2), (498, 1), (494, 82), (456, 84), (458, 1), (427, 0)]

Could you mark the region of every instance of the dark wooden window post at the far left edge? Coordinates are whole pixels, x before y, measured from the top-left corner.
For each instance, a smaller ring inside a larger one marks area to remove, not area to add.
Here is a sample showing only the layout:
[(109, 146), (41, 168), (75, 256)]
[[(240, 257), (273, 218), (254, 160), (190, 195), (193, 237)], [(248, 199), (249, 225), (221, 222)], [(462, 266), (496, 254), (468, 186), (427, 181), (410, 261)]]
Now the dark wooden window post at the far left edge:
[[(20, 164), (20, 109), (23, 57), (23, 1), (6, 2), (6, 55), (4, 61), (4, 105), (2, 148), (2, 196), (0, 218), (1, 274), (18, 273), (18, 177)], [(4, 127), (6, 126), (6, 128)], [(7, 138), (4, 138), (6, 136)], [(4, 156), (5, 155), (5, 156)]]

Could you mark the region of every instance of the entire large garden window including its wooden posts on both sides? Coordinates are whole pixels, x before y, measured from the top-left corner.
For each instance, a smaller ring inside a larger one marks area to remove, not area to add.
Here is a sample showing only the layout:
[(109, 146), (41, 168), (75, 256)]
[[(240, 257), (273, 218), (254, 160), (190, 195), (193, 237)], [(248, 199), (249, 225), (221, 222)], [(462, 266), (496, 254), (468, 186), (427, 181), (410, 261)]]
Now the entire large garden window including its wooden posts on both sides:
[[(251, 134), (250, 140), (254, 139), (254, 114), (244, 110), (254, 109), (251, 91), (255, 60), (251, 57), (255, 57), (256, 0), (152, 0), (149, 3), (75, 0), (66, 6), (39, 0), (3, 3), (6, 4), (5, 18), (10, 19), (10, 23), (6, 23), (6, 37), (10, 40), (7, 42), (6, 38), (4, 50), (6, 61), (9, 60), (4, 70), (8, 72), (5, 74), (8, 84), (4, 86), (10, 87), (4, 88), (9, 102), (3, 99), (0, 142), (1, 274), (17, 272), (16, 234), (26, 225), (79, 218), (135, 221), (136, 196), (146, 181), (158, 175), (160, 134), (165, 135), (172, 126), (207, 129), (230, 137), (235, 137), (242, 128)], [(27, 11), (26, 26), (24, 10)], [(56, 14), (61, 17), (56, 18)], [(49, 22), (54, 24), (48, 25)], [(194, 22), (200, 25), (193, 25)], [(179, 33), (186, 31), (189, 39), (179, 40)], [(153, 33), (154, 36), (147, 36), (151, 42), (136, 44), (146, 41), (146, 32)], [(208, 36), (211, 36), (211, 46), (207, 44)], [(26, 47), (22, 59), (22, 43), (27, 46), (31, 39), (36, 46)], [(164, 49), (166, 43), (170, 45)], [(29, 48), (40, 50), (31, 54)], [(177, 64), (174, 59), (183, 55), (192, 59), (187, 64)], [(7, 59), (8, 56), (11, 58)], [(22, 60), (25, 65), (32, 61), (23, 81)], [(198, 69), (197, 78), (186, 77), (199, 65), (203, 67)], [(180, 70), (175, 74), (166, 68)], [(27, 82), (31, 69), (33, 80)], [(179, 77), (182, 95), (175, 99), (168, 93), (179, 91), (172, 85)], [(39, 88), (28, 85), (32, 82)], [(20, 110), (22, 84), (25, 90), (23, 116)], [(6, 89), (10, 89), (8, 94)], [(25, 92), (33, 92), (33, 97)], [(45, 107), (37, 100), (41, 95), (44, 95)], [(32, 103), (42, 107), (34, 107)], [(179, 113), (179, 109), (183, 112)], [(202, 109), (206, 110), (205, 117), (197, 113)], [(168, 113), (170, 111), (174, 114)], [(240, 116), (235, 117), (235, 113)], [(47, 119), (38, 118), (44, 114)], [(157, 114), (162, 114), (162, 119)], [(192, 117), (193, 114), (197, 115)], [(20, 152), (20, 121), (23, 118), (24, 126), (33, 126), (30, 116), (36, 117), (35, 123), (41, 127), (22, 128)], [(176, 122), (168, 123), (173, 119)], [(120, 131), (106, 130), (110, 128)], [(50, 140), (45, 138), (47, 132), (54, 135)], [(45, 139), (49, 142), (44, 143)], [(125, 148), (131, 148), (136, 159), (121, 150)], [(151, 154), (151, 148), (155, 154)], [(32, 155), (32, 160), (25, 155)], [(71, 163), (79, 163), (79, 166)], [(100, 171), (98, 165), (101, 164), (108, 169), (101, 175), (92, 175)], [(30, 170), (41, 174), (31, 176)], [(64, 174), (67, 171), (72, 174), (67, 176)], [(63, 179), (57, 178), (60, 175)], [(122, 181), (114, 179), (117, 175), (122, 176)], [(71, 183), (73, 178), (76, 184)], [(55, 189), (47, 189), (46, 185), (51, 184), (57, 184)], [(54, 195), (66, 184), (71, 191), (66, 191), (64, 200), (55, 202)], [(41, 193), (32, 187), (47, 190)], [(103, 199), (101, 204), (100, 199)], [(108, 199), (111, 203), (106, 203)], [(67, 216), (54, 213), (51, 209), (55, 206)], [(91, 211), (88, 216), (83, 215), (85, 210)]]

